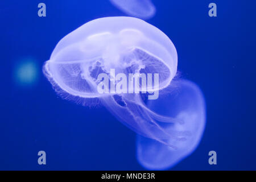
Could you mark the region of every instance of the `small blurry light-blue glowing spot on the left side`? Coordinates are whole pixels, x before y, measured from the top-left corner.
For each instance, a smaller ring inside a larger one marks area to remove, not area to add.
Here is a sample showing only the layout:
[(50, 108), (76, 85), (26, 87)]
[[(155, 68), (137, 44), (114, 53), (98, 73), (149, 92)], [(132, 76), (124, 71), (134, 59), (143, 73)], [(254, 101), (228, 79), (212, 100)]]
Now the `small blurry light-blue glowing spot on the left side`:
[(18, 61), (14, 68), (14, 81), (18, 86), (34, 86), (39, 78), (38, 63), (32, 58)]

